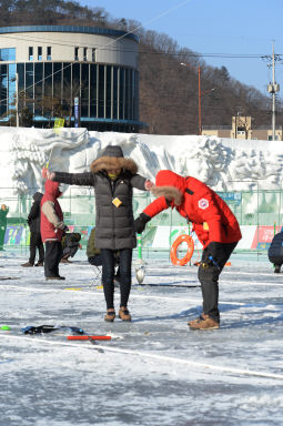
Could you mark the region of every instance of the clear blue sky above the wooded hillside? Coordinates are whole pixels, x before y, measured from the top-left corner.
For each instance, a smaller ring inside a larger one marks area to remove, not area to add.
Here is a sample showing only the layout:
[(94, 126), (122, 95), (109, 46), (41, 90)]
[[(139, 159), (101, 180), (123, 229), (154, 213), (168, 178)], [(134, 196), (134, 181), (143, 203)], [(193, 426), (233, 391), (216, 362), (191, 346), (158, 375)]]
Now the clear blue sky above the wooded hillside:
[[(266, 55), (282, 53), (276, 82), (283, 97), (283, 0), (79, 0), (104, 8), (111, 18), (139, 21), (146, 30), (166, 33), (180, 47), (198, 53)], [(231, 77), (267, 94), (272, 79), (261, 58), (204, 58), (213, 67), (226, 67)]]

